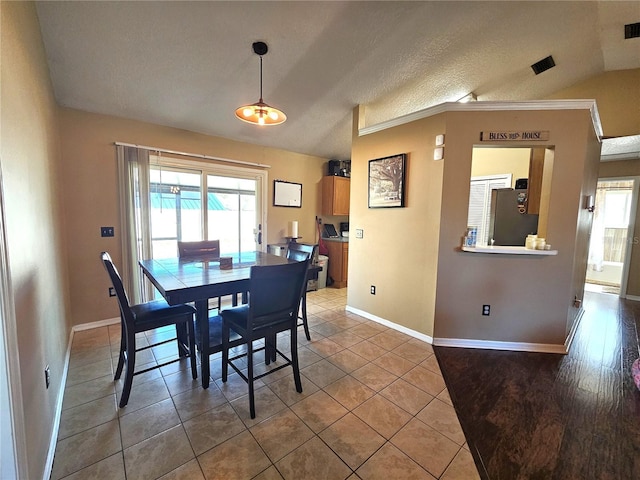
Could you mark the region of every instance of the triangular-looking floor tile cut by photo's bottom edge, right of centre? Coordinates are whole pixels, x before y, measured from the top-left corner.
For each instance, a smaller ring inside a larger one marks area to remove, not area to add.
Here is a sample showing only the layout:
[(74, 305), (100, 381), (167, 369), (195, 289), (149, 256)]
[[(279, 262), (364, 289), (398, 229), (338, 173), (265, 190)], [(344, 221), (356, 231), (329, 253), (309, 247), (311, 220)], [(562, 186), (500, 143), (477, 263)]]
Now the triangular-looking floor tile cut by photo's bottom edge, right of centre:
[(432, 475), (390, 443), (373, 454), (356, 474), (362, 480), (434, 480)]

